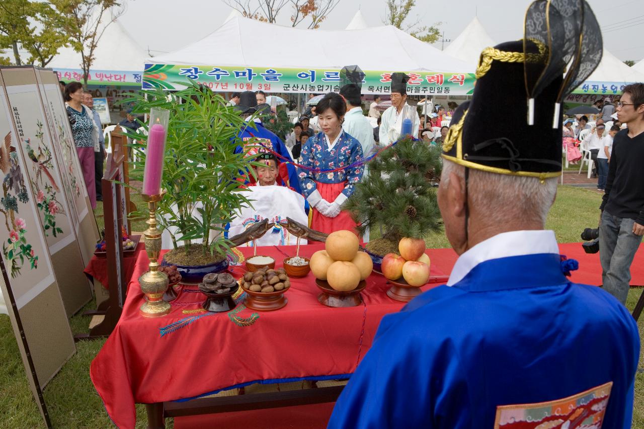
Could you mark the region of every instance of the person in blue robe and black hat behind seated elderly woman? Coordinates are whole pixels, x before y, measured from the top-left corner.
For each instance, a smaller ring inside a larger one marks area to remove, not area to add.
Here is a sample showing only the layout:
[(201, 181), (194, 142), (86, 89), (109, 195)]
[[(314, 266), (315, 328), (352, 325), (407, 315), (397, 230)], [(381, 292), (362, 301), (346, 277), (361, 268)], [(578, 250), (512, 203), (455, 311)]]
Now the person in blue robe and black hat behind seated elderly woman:
[[(257, 97), (252, 91), (243, 92), (242, 95), (240, 95), (239, 104), (234, 107), (239, 110), (242, 115), (245, 115), (247, 122), (251, 120), (252, 113), (255, 113), (258, 108), (260, 108), (260, 110), (268, 109), (268, 111), (270, 111), (270, 106), (268, 104), (262, 104), (261, 106), (258, 106)], [(260, 142), (261, 140), (265, 140), (265, 146), (269, 147), (273, 151), (276, 151), (277, 153), (279, 153), (279, 155), (292, 162), (289, 149), (287, 149), (286, 145), (281, 141), (281, 139), (277, 135), (275, 135), (275, 133), (265, 128), (265, 126), (263, 126), (263, 124), (261, 123), (261, 119), (253, 118), (252, 120), (254, 122), (254, 127), (249, 123), (249, 126), (243, 128), (238, 137), (242, 141), (248, 141), (251, 138), (258, 138), (260, 139)], [(242, 150), (242, 146), (238, 146), (235, 149), (235, 153), (240, 153)], [(283, 183), (283, 186), (291, 187), (294, 191), (301, 193), (301, 187), (299, 186), (296, 167), (292, 164), (288, 164), (284, 159), (279, 160), (279, 166), (279, 177), (286, 182)]]

